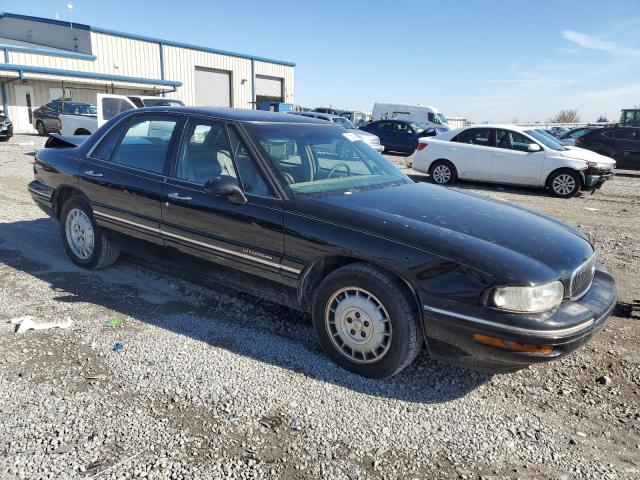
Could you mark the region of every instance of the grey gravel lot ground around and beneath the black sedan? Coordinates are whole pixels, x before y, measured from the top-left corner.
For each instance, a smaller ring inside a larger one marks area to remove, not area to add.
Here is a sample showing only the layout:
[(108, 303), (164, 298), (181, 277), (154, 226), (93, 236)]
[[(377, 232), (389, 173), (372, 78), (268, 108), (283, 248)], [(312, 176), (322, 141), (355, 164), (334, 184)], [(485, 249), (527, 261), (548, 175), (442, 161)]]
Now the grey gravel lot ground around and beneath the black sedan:
[[(0, 144), (1, 478), (640, 477), (639, 172), (571, 200), (453, 187), (592, 236), (621, 304), (585, 348), (500, 376), (421, 355), (372, 381), (294, 311), (127, 257), (76, 268), (26, 192), (40, 145)], [(74, 323), (17, 335), (23, 315)]]

